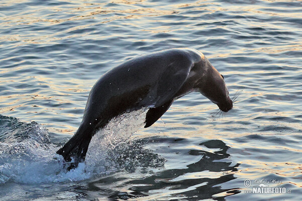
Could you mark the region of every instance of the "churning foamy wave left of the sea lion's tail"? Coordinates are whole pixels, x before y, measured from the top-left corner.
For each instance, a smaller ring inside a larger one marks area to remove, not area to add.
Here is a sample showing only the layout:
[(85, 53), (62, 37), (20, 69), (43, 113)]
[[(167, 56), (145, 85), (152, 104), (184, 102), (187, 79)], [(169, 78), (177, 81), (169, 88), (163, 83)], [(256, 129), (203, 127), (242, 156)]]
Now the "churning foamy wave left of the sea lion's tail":
[(90, 176), (83, 165), (77, 173), (63, 168), (64, 161), (55, 153), (58, 147), (50, 143), (48, 131), (42, 125), (5, 116), (0, 120), (0, 184), (59, 182)]

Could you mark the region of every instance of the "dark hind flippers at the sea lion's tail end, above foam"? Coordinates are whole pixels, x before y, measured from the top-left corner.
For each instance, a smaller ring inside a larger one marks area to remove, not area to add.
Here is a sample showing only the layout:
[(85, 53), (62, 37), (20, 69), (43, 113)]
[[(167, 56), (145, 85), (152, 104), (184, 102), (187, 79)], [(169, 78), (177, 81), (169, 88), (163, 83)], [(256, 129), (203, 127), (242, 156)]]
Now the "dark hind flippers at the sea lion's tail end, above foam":
[(78, 166), (80, 162), (83, 162), (86, 157), (86, 153), (88, 150), (89, 143), (92, 138), (92, 133), (84, 130), (80, 127), (72, 138), (56, 153), (62, 155), (66, 162), (70, 162), (74, 159), (74, 162), (67, 167), (68, 170), (75, 168)]

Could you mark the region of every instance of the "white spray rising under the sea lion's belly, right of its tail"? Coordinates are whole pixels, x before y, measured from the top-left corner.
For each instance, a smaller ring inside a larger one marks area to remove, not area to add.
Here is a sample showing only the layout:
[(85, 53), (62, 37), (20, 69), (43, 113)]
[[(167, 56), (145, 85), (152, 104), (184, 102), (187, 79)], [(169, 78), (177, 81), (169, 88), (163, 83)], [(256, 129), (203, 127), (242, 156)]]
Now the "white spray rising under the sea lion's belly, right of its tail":
[(114, 160), (107, 160), (111, 159), (110, 152), (128, 142), (129, 137), (144, 124), (146, 112), (147, 109), (126, 112), (113, 118), (104, 129), (93, 136), (86, 156), (90, 171), (116, 171), (116, 165), (111, 164)]

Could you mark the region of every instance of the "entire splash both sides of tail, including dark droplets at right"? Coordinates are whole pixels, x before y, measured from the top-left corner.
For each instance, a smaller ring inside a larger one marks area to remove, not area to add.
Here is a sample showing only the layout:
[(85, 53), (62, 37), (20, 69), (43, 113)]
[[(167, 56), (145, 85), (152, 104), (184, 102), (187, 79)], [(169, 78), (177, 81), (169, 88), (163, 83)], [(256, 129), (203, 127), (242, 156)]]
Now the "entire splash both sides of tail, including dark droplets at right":
[(112, 119), (92, 138), (85, 163), (70, 171), (56, 154), (59, 147), (50, 143), (46, 128), (0, 116), (0, 184), (79, 181), (139, 165), (160, 166), (164, 160), (143, 149), (142, 141), (130, 138), (144, 124), (146, 112), (127, 112)]

